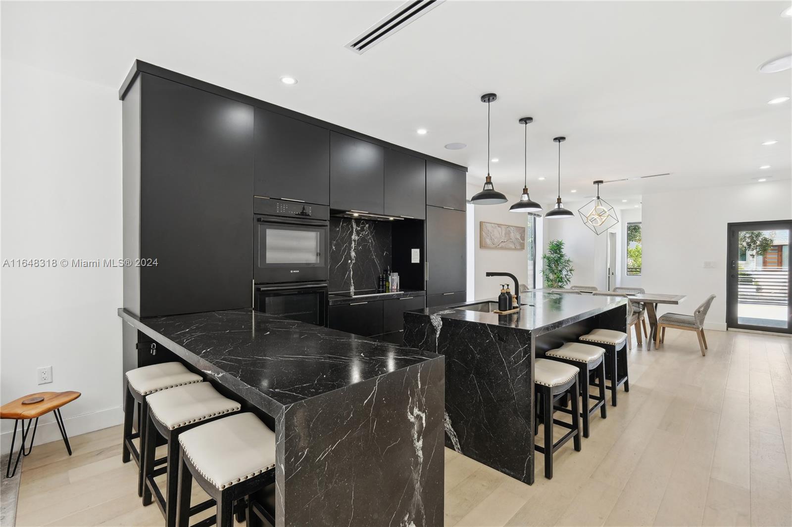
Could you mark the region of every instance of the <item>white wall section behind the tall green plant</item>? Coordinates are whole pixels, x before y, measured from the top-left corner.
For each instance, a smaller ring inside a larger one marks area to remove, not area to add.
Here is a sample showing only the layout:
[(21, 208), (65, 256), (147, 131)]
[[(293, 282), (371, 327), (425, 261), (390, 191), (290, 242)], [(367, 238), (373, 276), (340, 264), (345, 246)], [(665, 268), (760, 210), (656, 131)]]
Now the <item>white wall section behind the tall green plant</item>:
[[(577, 214), (577, 209), (584, 204), (564, 202), (564, 207), (575, 213), (573, 218), (545, 219), (543, 252), (546, 252), (551, 240), (563, 240), (564, 252), (572, 259), (574, 268), (569, 285), (596, 286), (604, 290), (607, 289), (607, 233), (597, 236), (584, 225)], [(553, 205), (546, 205), (543, 212), (550, 210)], [(538, 256), (537, 260), (541, 265), (541, 257)], [(536, 285), (544, 285), (542, 275), (537, 276)]]

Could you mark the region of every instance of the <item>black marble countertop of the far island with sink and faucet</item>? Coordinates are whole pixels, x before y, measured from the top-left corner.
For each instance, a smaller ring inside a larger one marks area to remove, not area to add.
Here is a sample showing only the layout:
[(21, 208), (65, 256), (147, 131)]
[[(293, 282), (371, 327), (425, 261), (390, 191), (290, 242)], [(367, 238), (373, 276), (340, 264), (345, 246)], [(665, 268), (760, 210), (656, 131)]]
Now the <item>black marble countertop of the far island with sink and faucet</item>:
[(491, 303), (491, 309), (497, 309), (497, 298), (488, 298), (434, 308), (414, 309), (410, 313), (527, 329), (535, 335), (541, 335), (626, 304), (626, 298), (529, 291), (520, 294), (521, 307), (517, 313), (499, 315), (475, 309), (461, 309), (466, 306), (472, 308), (485, 306), (488, 302)]

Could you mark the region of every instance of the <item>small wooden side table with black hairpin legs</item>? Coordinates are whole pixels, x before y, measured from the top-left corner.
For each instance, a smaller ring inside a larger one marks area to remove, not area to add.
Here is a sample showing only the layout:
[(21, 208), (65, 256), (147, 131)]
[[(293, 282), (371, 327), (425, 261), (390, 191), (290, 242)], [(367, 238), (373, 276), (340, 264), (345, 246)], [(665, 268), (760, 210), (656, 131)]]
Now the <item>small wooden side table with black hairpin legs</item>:
[[(68, 404), (80, 396), (80, 392), (38, 392), (31, 393), (30, 395), (20, 397), (17, 400), (12, 400), (10, 403), (3, 404), (0, 407), (0, 419), (14, 419), (13, 423), (13, 436), (11, 438), (11, 452), (8, 457), (8, 468), (6, 468), (6, 478), (10, 478), (17, 473), (17, 466), (21, 457), (28, 456), (33, 449), (33, 441), (36, 439), (36, 428), (39, 426), (39, 418), (52, 412), (55, 415), (55, 423), (58, 423), (58, 430), (63, 438), (63, 444), (66, 445), (66, 450), (71, 455), (71, 445), (69, 445), (69, 436), (66, 434), (66, 425), (63, 423), (63, 415), (60, 415), (60, 407)], [(28, 420), (28, 426), (25, 427), (25, 419)], [(25, 441), (28, 438), (30, 431), (30, 423), (36, 419), (33, 425), (33, 434), (30, 437), (30, 445), (25, 450)], [(11, 460), (13, 458), (13, 443), (17, 440), (17, 427), (20, 421), (22, 422), (21, 434), (22, 445), (17, 454), (17, 461), (13, 464), (13, 471), (11, 470)]]

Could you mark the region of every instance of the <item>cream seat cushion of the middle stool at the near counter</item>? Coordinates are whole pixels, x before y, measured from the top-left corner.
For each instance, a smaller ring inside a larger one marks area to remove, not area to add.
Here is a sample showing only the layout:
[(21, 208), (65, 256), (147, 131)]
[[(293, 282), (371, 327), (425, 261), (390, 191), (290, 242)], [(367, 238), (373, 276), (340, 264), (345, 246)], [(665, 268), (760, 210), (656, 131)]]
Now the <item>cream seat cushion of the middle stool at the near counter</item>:
[(239, 411), (242, 405), (220, 395), (208, 382), (177, 386), (147, 397), (151, 417), (175, 430), (215, 415)]

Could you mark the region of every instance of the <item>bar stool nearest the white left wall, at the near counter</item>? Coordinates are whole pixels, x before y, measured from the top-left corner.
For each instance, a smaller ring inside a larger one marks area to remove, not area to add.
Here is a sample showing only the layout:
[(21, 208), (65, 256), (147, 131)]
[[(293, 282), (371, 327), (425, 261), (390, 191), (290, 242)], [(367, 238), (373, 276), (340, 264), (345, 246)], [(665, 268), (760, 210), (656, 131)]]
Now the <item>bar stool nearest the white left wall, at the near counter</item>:
[[(138, 464), (138, 495), (143, 496), (143, 438), (146, 437), (144, 427), (147, 414), (146, 396), (160, 390), (174, 386), (188, 385), (200, 382), (203, 379), (197, 373), (192, 373), (181, 362), (163, 362), (143, 366), (127, 372), (127, 391), (124, 396), (124, 441), (121, 451), (121, 461), (128, 463), (129, 458), (135, 459)], [(138, 431), (132, 433), (132, 419), (135, 415), (135, 406), (138, 409)], [(140, 438), (140, 452), (132, 443), (133, 439)], [(157, 460), (157, 464), (165, 460)]]

